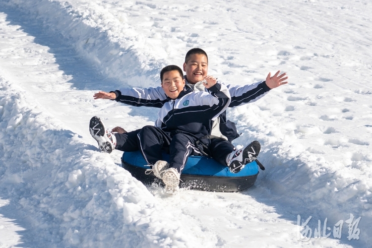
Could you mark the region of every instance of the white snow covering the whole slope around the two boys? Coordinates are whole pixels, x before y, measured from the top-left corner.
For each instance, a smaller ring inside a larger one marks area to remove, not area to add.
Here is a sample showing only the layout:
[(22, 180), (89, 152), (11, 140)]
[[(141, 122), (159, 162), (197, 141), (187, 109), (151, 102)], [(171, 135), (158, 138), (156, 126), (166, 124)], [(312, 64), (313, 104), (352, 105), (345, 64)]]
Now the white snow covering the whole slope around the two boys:
[[(369, 247), (371, 11), (367, 0), (0, 0), (0, 248)], [(234, 144), (262, 146), (266, 170), (244, 192), (144, 186), (89, 134), (95, 115), (127, 131), (153, 124), (157, 109), (92, 96), (157, 86), (193, 47), (226, 83), (290, 77), (228, 111)]]

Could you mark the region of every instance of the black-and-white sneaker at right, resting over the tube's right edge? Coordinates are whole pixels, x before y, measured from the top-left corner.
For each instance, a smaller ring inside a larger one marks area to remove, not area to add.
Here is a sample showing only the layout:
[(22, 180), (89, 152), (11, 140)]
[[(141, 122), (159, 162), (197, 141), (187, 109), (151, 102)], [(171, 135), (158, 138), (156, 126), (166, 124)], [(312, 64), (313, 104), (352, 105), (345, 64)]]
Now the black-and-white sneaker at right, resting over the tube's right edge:
[(261, 145), (257, 140), (254, 140), (249, 145), (233, 151), (226, 158), (226, 163), (232, 173), (240, 172), (246, 164), (256, 160)]

